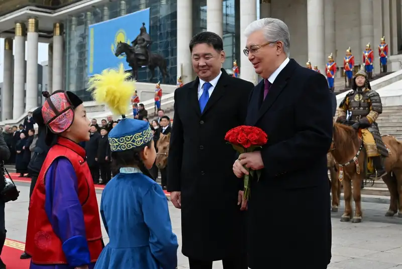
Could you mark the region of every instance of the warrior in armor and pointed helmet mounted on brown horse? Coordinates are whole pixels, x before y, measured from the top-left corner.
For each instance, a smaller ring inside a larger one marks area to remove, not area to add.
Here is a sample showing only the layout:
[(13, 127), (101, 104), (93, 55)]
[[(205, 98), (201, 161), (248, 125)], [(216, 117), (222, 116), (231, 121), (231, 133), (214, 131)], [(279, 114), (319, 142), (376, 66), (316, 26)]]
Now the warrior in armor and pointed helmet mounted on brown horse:
[[(345, 211), (341, 221), (352, 217), (352, 188), (356, 211), (353, 222), (361, 222), (361, 193), (363, 179), (383, 179), (391, 201), (385, 216), (398, 213), (402, 217), (402, 144), (392, 136), (381, 136), (375, 122), (382, 113), (379, 94), (371, 90), (364, 66), (353, 78), (352, 91), (338, 108), (330, 152), (338, 170), (338, 179), (344, 188)], [(349, 119), (346, 111), (351, 112)]]

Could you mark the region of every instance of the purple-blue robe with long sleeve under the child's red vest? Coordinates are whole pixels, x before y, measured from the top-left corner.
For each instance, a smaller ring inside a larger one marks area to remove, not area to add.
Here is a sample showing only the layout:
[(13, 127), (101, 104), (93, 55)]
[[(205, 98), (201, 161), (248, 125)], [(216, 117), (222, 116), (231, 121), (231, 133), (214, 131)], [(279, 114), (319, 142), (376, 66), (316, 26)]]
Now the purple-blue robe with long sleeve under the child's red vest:
[[(84, 215), (78, 200), (77, 176), (71, 163), (66, 158), (56, 159), (45, 176), (46, 200), (45, 211), (55, 234), (63, 245), (71, 244), (74, 248), (64, 248), (70, 264), (34, 264), (30, 269), (74, 269), (75, 266), (90, 263), (89, 249), (86, 244)], [(69, 242), (69, 243), (66, 243)], [(84, 243), (85, 242), (85, 243)], [(72, 258), (69, 260), (69, 258)]]

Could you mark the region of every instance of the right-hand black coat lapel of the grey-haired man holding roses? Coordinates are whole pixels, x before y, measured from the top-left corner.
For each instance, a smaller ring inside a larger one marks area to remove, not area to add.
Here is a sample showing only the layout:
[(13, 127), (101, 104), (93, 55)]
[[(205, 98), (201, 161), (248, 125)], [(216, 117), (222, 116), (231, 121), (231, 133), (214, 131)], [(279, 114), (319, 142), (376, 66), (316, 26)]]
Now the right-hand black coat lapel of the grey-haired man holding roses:
[[(282, 90), (285, 88), (287, 80), (290, 78), (293, 70), (297, 67), (297, 63), (290, 59), (287, 65), (280, 71), (275, 81), (269, 88), (269, 93), (265, 100), (262, 102), (260, 110), (258, 111), (258, 116), (255, 119), (254, 124), (267, 112), (271, 106), (275, 103), (279, 95), (282, 93)], [(259, 95), (260, 97), (261, 95)]]

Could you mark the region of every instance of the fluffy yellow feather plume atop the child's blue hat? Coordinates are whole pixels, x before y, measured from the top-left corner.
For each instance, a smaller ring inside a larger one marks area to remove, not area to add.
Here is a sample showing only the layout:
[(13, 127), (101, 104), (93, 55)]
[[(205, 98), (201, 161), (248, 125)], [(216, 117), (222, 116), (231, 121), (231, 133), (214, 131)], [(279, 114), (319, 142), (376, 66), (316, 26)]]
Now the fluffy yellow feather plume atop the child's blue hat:
[(135, 92), (135, 81), (127, 80), (123, 64), (119, 69), (105, 69), (89, 79), (88, 91), (97, 103), (107, 104), (114, 114), (125, 115)]

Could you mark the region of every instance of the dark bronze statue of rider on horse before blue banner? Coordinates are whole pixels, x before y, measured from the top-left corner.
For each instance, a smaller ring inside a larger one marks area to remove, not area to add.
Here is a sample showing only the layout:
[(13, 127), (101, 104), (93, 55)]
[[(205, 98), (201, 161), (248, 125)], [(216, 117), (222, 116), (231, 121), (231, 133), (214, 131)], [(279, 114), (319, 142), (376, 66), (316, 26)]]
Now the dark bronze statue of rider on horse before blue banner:
[(119, 42), (116, 47), (115, 56), (119, 57), (122, 54), (126, 55), (126, 61), (133, 71), (133, 78), (138, 79), (138, 69), (141, 67), (148, 66), (148, 69), (151, 71), (151, 78), (149, 79), (152, 82), (152, 79), (155, 76), (155, 68), (159, 67), (160, 72), (162, 73), (162, 81), (165, 82), (165, 78), (169, 76), (167, 73), (167, 62), (166, 59), (162, 57), (160, 54), (154, 54), (151, 52), (151, 44), (152, 40), (147, 33), (147, 29), (145, 28), (145, 23), (142, 23), (142, 27), (140, 28), (140, 34), (135, 38), (133, 42), (131, 42), (132, 46), (127, 43)]

